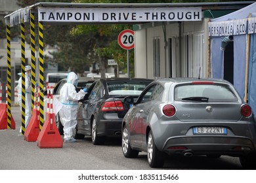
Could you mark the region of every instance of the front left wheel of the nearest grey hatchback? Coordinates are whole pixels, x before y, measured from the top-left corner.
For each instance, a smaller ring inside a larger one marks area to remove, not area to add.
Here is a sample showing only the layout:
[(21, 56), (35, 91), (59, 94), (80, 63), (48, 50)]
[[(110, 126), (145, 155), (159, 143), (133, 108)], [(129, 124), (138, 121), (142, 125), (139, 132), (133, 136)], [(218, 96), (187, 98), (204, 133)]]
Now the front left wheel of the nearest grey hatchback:
[(122, 133), (122, 150), (123, 156), (126, 158), (137, 158), (139, 151), (133, 150), (130, 146), (127, 127), (123, 127)]

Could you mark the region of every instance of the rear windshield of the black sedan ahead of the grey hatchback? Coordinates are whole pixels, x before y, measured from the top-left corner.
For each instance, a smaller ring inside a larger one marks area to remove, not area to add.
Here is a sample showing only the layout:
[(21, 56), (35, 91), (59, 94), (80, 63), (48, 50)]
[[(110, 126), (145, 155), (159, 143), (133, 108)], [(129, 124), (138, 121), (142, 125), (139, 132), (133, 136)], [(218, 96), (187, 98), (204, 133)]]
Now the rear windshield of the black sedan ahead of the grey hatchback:
[(150, 82), (120, 81), (108, 82), (109, 95), (140, 95)]

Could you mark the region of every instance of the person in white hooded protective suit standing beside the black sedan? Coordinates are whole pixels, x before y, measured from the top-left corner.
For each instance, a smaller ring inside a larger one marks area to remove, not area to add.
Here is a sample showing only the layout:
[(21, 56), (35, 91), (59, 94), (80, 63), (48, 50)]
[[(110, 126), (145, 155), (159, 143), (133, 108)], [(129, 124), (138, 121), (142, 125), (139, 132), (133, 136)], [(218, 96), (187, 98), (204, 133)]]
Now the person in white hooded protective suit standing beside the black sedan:
[(60, 89), (61, 103), (60, 122), (63, 125), (64, 142), (76, 142), (74, 139), (75, 126), (77, 125), (76, 114), (78, 101), (83, 99), (86, 94), (86, 88), (78, 93), (75, 90), (78, 76), (74, 72), (68, 73), (67, 82)]

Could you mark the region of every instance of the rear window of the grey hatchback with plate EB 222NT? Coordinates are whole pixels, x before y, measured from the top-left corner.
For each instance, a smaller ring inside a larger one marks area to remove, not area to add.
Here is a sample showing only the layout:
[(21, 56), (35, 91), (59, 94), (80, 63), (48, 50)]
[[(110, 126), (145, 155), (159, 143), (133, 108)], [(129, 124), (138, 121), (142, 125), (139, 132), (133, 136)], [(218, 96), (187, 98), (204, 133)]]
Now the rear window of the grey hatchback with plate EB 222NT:
[(175, 88), (176, 101), (196, 101), (200, 98), (211, 102), (238, 101), (236, 94), (226, 84), (186, 84)]

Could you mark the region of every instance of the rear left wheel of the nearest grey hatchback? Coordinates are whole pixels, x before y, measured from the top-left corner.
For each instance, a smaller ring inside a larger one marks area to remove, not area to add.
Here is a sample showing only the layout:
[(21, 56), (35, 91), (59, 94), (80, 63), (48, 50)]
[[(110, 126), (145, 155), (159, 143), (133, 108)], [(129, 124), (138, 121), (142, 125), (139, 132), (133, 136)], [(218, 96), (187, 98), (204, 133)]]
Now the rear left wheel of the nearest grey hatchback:
[(152, 131), (150, 131), (148, 133), (148, 164), (152, 168), (160, 168), (163, 167), (164, 161), (165, 154), (156, 147)]

